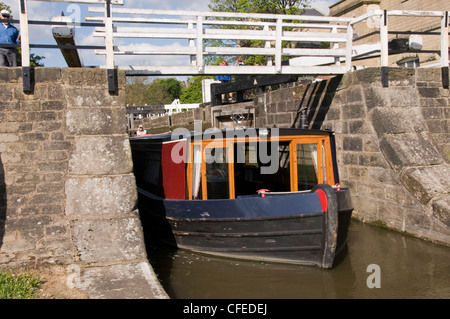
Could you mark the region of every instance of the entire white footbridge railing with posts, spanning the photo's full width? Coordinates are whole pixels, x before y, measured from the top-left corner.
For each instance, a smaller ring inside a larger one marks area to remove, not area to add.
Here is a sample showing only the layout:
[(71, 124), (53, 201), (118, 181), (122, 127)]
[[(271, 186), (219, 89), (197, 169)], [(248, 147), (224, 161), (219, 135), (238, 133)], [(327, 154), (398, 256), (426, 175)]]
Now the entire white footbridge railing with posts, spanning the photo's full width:
[[(104, 38), (104, 46), (76, 46), (80, 49), (95, 49), (106, 56), (109, 71), (120, 68), (127, 74), (147, 75), (216, 75), (216, 74), (342, 74), (352, 69), (355, 50), (354, 28), (368, 19), (379, 21), (379, 34), (375, 55), (381, 67), (389, 65), (389, 18), (394, 16), (440, 19), (437, 29), (440, 34), (439, 65), (449, 64), (449, 14), (447, 11), (400, 11), (377, 10), (357, 18), (317, 17), (304, 15), (244, 14), (230, 12), (161, 11), (150, 9), (128, 9), (113, 7), (123, 0), (17, 0), (19, 2), (22, 65), (30, 66), (30, 44), (28, 33), (27, 1), (54, 1), (102, 4), (89, 7), (100, 16), (86, 17), (80, 26), (95, 27), (94, 36)], [(33, 24), (52, 24), (50, 21), (32, 21)], [(144, 25), (144, 26), (141, 26)], [(413, 27), (413, 26), (412, 26)], [(413, 33), (413, 32), (411, 32)], [(423, 33), (423, 34), (426, 34)], [(361, 35), (359, 35), (361, 37)], [(122, 41), (140, 42), (115, 46)], [(176, 45), (161, 45), (159, 41), (175, 41)], [(260, 47), (244, 47), (240, 42), (260, 41)], [(221, 41), (226, 46), (214, 45)], [(303, 43), (304, 47), (299, 47)], [(319, 44), (319, 45), (318, 45)], [(320, 46), (320, 44), (326, 44)], [(313, 46), (313, 47), (312, 47)], [(314, 47), (316, 46), (316, 47)], [(42, 46), (41, 46), (42, 47)], [(50, 48), (50, 46), (45, 46)], [(55, 46), (58, 48), (58, 46)], [(117, 56), (132, 55), (184, 55), (190, 57), (187, 65), (120, 65)], [(209, 56), (265, 56), (267, 65), (228, 67), (205, 63)], [(373, 56), (373, 55), (372, 55)], [(287, 58), (306, 57), (318, 63), (283, 63)], [(111, 75), (112, 73), (108, 73)]]

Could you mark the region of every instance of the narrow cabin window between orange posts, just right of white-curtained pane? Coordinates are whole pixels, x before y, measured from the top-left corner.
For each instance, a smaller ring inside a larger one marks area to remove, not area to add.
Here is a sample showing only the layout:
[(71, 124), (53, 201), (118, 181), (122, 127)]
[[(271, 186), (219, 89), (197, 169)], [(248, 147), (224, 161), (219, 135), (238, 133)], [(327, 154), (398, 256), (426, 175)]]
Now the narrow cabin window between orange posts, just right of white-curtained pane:
[(227, 148), (205, 148), (208, 199), (224, 199), (230, 197), (227, 157)]

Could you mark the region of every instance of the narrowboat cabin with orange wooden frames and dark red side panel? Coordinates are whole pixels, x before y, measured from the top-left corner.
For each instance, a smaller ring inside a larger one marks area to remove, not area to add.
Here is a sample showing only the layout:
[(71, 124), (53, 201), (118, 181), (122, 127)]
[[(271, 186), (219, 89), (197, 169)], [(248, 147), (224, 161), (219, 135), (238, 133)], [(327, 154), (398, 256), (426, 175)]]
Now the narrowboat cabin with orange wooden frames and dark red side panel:
[(130, 143), (138, 187), (165, 199), (235, 199), (339, 182), (329, 131), (207, 130)]

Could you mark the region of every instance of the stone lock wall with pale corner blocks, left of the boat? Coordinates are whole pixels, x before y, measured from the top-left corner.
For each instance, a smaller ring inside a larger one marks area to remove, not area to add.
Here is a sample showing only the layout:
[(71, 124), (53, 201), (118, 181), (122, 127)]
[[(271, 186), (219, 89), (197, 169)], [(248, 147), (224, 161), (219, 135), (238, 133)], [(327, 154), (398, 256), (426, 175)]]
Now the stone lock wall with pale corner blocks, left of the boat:
[(0, 68), (0, 267), (75, 265), (91, 297), (165, 298), (136, 210), (124, 73), (116, 94), (106, 70), (34, 73), (24, 93), (21, 69)]

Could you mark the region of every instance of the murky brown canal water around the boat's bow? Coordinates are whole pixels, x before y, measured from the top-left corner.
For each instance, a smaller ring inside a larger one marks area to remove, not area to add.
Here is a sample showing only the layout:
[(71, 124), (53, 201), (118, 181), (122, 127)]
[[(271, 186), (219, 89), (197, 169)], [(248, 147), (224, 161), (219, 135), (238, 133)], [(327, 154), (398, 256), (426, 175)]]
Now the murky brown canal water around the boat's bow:
[(352, 220), (348, 251), (330, 270), (211, 257), (149, 245), (177, 299), (449, 299), (450, 248)]

